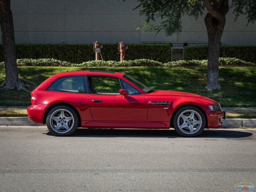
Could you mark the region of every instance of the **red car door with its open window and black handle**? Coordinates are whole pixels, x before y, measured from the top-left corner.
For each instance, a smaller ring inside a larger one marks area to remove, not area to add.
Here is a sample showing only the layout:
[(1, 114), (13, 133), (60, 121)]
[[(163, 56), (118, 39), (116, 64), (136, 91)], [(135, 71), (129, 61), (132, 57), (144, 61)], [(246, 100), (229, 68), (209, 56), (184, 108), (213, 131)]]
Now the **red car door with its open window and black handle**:
[(120, 95), (121, 79), (111, 76), (88, 76), (89, 106), (95, 121), (147, 120), (147, 98), (142, 93)]

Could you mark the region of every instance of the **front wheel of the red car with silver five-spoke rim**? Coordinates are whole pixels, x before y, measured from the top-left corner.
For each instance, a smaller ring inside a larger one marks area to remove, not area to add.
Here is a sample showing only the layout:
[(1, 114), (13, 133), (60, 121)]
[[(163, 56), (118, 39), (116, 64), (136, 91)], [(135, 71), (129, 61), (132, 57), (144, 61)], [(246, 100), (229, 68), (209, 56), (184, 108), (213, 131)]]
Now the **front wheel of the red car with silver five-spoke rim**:
[(204, 113), (194, 106), (180, 108), (173, 120), (173, 127), (177, 134), (185, 137), (201, 134), (206, 125)]

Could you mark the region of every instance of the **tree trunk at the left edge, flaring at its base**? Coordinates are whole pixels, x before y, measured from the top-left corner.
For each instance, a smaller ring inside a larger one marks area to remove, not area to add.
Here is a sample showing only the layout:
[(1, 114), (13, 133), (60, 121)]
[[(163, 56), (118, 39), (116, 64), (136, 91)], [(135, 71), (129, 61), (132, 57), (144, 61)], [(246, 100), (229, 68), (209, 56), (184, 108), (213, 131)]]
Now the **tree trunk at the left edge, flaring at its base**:
[(24, 83), (19, 80), (15, 51), (15, 37), (10, 0), (0, 0), (0, 26), (2, 30), (4, 66), (6, 79), (1, 85), (5, 89), (25, 89)]

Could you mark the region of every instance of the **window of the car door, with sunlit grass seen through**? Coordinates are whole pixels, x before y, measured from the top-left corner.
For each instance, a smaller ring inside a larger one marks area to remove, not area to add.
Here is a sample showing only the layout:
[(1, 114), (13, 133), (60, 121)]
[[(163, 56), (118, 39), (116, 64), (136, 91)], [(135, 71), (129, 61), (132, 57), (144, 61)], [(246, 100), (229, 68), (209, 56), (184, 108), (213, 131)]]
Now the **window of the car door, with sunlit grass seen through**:
[(119, 79), (102, 76), (89, 76), (89, 89), (93, 94), (119, 94), (122, 89)]

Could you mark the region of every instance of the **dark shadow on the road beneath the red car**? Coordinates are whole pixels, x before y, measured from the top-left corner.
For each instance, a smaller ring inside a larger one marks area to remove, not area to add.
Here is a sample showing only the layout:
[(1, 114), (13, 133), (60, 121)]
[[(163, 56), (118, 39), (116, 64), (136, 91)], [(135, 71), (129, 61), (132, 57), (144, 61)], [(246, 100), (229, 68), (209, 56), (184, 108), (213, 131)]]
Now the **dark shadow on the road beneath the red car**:
[[(50, 132), (47, 135), (53, 136)], [(204, 130), (198, 138), (243, 138), (253, 135), (240, 130)], [(162, 137), (182, 138), (173, 129), (87, 129), (79, 128), (68, 137)]]

